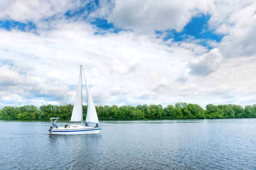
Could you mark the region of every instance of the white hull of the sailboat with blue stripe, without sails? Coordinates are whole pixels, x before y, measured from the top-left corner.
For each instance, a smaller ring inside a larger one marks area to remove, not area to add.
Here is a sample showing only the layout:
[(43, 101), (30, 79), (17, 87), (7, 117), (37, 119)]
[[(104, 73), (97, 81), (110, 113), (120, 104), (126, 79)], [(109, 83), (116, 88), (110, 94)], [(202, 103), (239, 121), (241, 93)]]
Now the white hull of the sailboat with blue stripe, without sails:
[(49, 131), (49, 135), (87, 135), (97, 134), (102, 130), (102, 127), (87, 127), (84, 125), (70, 125), (67, 128), (56, 127)]

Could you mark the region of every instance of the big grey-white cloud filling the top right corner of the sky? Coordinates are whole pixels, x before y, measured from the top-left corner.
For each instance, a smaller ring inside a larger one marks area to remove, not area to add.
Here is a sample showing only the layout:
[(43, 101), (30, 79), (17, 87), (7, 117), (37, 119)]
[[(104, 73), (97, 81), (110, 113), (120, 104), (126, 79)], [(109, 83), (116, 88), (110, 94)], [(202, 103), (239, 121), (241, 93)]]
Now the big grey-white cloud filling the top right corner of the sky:
[(219, 50), (223, 57), (250, 57), (256, 53), (255, 0), (220, 0), (209, 11), (209, 26), (225, 34)]

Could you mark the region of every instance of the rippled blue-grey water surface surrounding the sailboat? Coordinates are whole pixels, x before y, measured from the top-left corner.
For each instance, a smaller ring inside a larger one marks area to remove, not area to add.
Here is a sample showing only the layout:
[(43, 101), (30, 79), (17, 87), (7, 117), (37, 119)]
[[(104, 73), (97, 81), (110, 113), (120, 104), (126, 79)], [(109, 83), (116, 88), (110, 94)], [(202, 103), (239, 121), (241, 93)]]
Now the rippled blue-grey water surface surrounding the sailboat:
[(49, 122), (0, 121), (0, 169), (256, 169), (256, 119), (100, 123), (49, 136)]

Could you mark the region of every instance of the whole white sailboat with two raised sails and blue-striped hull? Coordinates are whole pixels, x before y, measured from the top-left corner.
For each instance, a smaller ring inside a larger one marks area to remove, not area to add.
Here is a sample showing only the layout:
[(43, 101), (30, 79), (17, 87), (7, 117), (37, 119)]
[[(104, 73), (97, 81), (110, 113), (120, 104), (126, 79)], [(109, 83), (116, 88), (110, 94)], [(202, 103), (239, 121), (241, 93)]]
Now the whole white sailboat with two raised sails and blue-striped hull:
[[(85, 81), (85, 87), (87, 92), (87, 114), (85, 124), (83, 122), (83, 94), (82, 94), (82, 71), (84, 73), (83, 66), (80, 65), (79, 80), (76, 91), (76, 99), (72, 111), (70, 122), (81, 122), (81, 125), (65, 125), (59, 127), (56, 125), (57, 118), (50, 118), (51, 126), (49, 129), (49, 135), (85, 135), (85, 134), (96, 134), (102, 130), (102, 125), (99, 125), (99, 119), (97, 116), (96, 108), (93, 102), (93, 98), (90, 94), (90, 89)], [(55, 121), (54, 121), (55, 120)], [(93, 124), (96, 126), (89, 126)]]

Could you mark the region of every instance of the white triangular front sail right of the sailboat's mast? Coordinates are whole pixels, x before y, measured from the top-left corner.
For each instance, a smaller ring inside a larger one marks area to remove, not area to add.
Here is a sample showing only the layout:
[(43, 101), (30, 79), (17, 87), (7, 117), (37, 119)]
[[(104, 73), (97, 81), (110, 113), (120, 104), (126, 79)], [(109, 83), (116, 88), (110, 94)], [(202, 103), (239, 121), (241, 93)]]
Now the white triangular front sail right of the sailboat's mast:
[[(84, 74), (84, 77), (85, 77), (85, 74)], [(99, 119), (98, 119), (96, 108), (93, 102), (93, 97), (90, 94), (90, 89), (86, 82), (85, 82), (85, 85), (86, 85), (86, 91), (87, 91), (87, 114), (86, 114), (85, 122), (99, 124)]]

